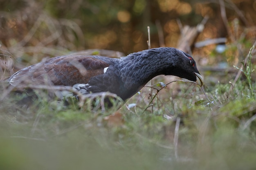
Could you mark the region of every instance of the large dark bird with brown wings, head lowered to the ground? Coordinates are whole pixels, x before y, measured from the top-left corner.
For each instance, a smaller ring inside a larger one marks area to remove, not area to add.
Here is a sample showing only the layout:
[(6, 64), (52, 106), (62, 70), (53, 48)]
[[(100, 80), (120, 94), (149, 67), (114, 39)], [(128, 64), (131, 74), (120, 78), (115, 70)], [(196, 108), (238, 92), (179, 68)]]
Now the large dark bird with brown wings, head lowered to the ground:
[(157, 75), (174, 75), (203, 85), (193, 57), (173, 47), (147, 49), (121, 58), (53, 57), (23, 68), (5, 81), (16, 89), (49, 85), (70, 86), (82, 94), (110, 92), (126, 101)]

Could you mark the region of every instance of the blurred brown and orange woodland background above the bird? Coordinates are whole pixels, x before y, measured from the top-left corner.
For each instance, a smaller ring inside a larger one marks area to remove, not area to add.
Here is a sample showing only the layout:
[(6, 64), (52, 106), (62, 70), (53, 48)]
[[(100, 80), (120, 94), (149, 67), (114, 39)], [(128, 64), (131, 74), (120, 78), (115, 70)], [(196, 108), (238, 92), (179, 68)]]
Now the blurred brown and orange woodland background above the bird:
[(22, 64), (14, 71), (72, 51), (105, 49), (127, 55), (148, 49), (147, 26), (152, 48), (182, 49), (200, 66), (217, 66), (211, 68), (215, 71), (239, 64), (256, 38), (255, 0), (0, 0), (0, 4), (0, 52)]

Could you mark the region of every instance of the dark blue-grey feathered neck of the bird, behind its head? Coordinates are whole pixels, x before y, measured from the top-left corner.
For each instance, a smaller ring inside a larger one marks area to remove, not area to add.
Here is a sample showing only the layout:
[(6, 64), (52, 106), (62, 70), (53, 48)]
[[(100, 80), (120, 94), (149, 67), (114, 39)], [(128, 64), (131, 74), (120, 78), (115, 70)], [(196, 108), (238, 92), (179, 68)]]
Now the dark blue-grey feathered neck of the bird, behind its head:
[[(175, 56), (175, 51), (174, 48), (167, 52), (161, 48), (149, 49), (121, 58), (119, 74), (124, 86), (127, 89), (142, 88), (153, 77), (166, 74), (166, 70), (173, 67), (172, 57)], [(137, 87), (138, 85), (142, 87)]]

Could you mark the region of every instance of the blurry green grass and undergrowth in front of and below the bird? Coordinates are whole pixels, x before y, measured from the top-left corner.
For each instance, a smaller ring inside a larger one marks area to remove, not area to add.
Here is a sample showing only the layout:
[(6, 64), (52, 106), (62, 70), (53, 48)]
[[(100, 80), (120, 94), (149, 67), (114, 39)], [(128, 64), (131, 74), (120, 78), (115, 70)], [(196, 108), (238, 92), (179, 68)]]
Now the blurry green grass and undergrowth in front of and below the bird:
[[(128, 109), (125, 104), (118, 111), (121, 113), (118, 124), (106, 119), (116, 108), (105, 113), (99, 108), (92, 113), (86, 108), (86, 101), (83, 107), (78, 107), (79, 102), (72, 98), (70, 105), (65, 105), (55, 100), (49, 102), (46, 95), (28, 109), (3, 101), (0, 137), (5, 139), (0, 141), (0, 146), (4, 146), (0, 147), (3, 160), (0, 167), (14, 170), (254, 167), (256, 123), (252, 118), (256, 101), (248, 97), (249, 86), (237, 82), (232, 95), (230, 84), (216, 84), (206, 92), (210, 99), (215, 96), (211, 104), (202, 95), (198, 97), (202, 94), (198, 86), (189, 83), (179, 82), (182, 93), (176, 96), (161, 93), (170, 91), (168, 86), (156, 85), (161, 89), (153, 90), (153, 95), (156, 92), (157, 95), (152, 101), (145, 99), (150, 89), (144, 88), (127, 102), (135, 103), (135, 107)], [(150, 101), (153, 112), (148, 107)], [(178, 157), (173, 143), (177, 117), (181, 118)], [(17, 161), (18, 166), (11, 165), (11, 160)]]

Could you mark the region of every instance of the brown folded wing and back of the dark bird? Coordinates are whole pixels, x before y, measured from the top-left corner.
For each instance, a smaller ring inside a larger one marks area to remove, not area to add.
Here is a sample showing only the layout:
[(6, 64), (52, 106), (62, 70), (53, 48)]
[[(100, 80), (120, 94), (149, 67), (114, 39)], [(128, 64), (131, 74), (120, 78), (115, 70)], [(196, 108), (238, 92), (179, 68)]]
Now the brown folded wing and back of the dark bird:
[[(104, 58), (105, 61), (101, 60)], [(60, 56), (26, 67), (7, 79), (10, 84), (50, 84), (72, 86), (86, 84), (93, 76), (103, 74), (108, 57)]]

